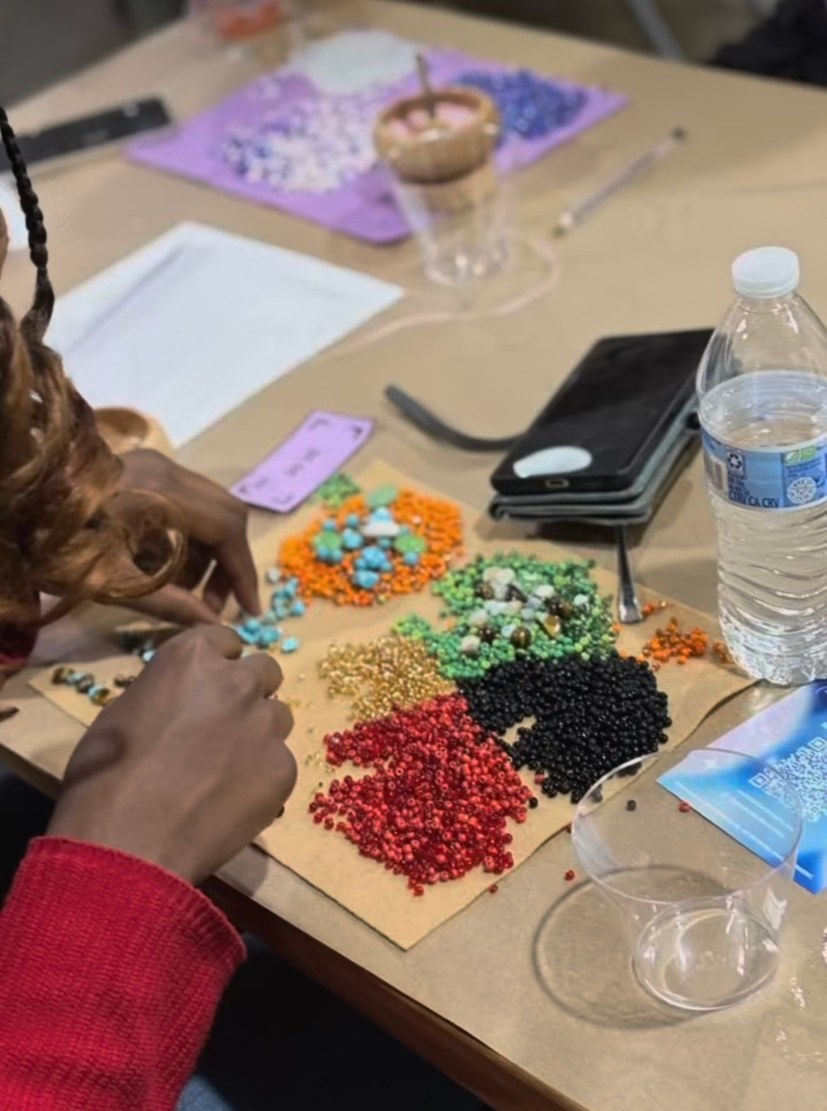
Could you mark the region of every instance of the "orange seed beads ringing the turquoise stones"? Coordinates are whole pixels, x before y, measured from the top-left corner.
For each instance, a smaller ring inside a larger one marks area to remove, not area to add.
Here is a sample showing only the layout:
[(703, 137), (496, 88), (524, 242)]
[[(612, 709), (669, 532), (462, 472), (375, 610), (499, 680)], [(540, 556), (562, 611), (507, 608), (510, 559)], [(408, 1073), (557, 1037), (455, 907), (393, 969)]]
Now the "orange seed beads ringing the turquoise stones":
[[(369, 512), (366, 499), (356, 494), (349, 498), (330, 519), (343, 528), (352, 514), (363, 517)], [(282, 574), (299, 580), (301, 598), (326, 598), (336, 605), (373, 605), (387, 601), (393, 594), (424, 590), (434, 579), (445, 574), (454, 557), (462, 554), (460, 509), (450, 501), (427, 498), (414, 490), (401, 490), (393, 502), (393, 517), (396, 522), (421, 536), (426, 548), (415, 567), (409, 567), (395, 551), (389, 550), (393, 573), (383, 579), (381, 588), (363, 590), (354, 584), (357, 551), (346, 552), (341, 563), (334, 564), (323, 563), (316, 558), (313, 538), (324, 527), (324, 517), (320, 517), (303, 533), (288, 537), (284, 541), (279, 553)]]

